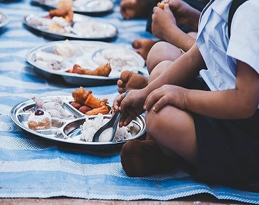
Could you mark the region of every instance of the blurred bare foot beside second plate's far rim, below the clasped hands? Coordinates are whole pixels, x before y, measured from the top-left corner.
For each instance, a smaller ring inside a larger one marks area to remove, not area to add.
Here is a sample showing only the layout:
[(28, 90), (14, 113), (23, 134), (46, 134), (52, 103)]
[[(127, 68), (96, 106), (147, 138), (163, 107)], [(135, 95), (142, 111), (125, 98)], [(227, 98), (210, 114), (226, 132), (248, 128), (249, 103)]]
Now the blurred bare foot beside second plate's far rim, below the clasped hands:
[(132, 46), (146, 61), (148, 52), (155, 43), (156, 41), (150, 39), (137, 39), (133, 41)]

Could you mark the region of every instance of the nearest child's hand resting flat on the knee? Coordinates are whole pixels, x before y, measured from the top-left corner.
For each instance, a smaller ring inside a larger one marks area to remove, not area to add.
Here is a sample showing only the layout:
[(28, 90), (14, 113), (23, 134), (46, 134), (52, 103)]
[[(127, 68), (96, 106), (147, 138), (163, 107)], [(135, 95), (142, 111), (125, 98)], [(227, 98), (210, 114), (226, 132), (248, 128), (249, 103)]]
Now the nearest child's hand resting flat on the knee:
[(187, 89), (176, 85), (163, 85), (148, 95), (144, 109), (158, 112), (165, 105), (173, 105), (185, 110), (185, 92), (187, 91)]

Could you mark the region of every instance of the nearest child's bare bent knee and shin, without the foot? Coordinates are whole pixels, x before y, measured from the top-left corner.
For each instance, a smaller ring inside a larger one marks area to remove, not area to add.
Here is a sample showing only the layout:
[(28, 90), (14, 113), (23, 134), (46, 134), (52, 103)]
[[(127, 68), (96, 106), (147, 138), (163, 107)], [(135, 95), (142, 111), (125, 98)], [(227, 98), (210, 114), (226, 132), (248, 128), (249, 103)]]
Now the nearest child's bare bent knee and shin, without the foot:
[(197, 164), (195, 124), (186, 111), (167, 105), (158, 113), (146, 112), (147, 133), (166, 150), (175, 152), (189, 163)]

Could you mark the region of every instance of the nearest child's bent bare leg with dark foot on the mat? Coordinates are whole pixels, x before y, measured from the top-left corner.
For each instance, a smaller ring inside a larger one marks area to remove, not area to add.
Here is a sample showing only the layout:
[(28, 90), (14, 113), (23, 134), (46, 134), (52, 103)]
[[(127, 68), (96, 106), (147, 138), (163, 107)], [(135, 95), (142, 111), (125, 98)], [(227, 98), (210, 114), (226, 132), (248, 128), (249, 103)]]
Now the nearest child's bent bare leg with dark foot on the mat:
[(196, 165), (197, 147), (191, 115), (166, 106), (159, 113), (146, 113), (146, 125), (146, 140), (133, 139), (122, 146), (121, 163), (128, 176), (149, 176), (189, 166), (189, 163)]

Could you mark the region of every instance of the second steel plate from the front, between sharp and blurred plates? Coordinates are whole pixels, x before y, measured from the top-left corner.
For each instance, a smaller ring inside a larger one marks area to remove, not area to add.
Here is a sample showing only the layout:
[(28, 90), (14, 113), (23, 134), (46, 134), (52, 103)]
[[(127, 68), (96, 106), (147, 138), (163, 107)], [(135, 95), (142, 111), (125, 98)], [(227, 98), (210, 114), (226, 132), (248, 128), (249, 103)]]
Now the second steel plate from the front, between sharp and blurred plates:
[[(65, 53), (57, 54), (55, 50), (58, 48), (62, 48)], [(133, 70), (141, 74), (146, 72), (144, 59), (135, 51), (99, 41), (48, 42), (31, 49), (26, 58), (29, 64), (36, 68), (36, 72), (44, 77), (51, 79), (59, 76), (66, 83), (79, 86), (111, 85), (118, 81), (123, 70)], [(97, 68), (107, 62), (110, 62), (112, 68), (109, 77), (66, 72), (74, 64), (79, 64), (83, 68)]]

